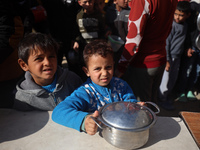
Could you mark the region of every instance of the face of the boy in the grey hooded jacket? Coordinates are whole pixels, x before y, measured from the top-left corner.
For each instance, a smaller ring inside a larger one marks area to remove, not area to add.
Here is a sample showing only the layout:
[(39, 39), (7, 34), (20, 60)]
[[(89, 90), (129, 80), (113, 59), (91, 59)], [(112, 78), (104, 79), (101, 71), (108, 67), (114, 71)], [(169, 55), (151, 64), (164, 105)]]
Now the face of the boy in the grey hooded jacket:
[(38, 85), (45, 86), (53, 82), (57, 70), (57, 56), (54, 51), (46, 53), (40, 50), (32, 51), (28, 58), (28, 64), (21, 59), (18, 62), (24, 71), (30, 72)]

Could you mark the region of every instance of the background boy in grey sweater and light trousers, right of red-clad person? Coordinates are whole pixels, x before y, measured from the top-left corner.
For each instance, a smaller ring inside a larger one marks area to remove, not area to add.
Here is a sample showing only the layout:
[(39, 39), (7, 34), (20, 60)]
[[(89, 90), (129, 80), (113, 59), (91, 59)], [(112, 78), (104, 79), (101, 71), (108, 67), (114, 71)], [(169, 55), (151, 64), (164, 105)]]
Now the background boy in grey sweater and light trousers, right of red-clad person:
[(190, 16), (190, 3), (180, 1), (174, 13), (172, 30), (166, 40), (167, 63), (160, 85), (160, 105), (173, 110), (173, 89), (177, 81), (181, 55), (184, 52), (184, 43), (187, 34), (186, 19)]

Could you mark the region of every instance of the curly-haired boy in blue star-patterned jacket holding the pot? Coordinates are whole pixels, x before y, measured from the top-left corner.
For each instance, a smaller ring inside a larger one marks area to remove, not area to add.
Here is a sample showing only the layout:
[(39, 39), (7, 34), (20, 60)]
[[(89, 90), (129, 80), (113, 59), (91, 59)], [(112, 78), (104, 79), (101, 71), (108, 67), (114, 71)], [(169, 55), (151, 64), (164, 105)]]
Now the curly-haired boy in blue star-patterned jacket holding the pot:
[(97, 110), (108, 103), (137, 100), (125, 81), (113, 77), (113, 50), (106, 42), (95, 40), (89, 43), (83, 55), (84, 71), (89, 78), (54, 109), (52, 119), (61, 125), (94, 135), (97, 125), (90, 114), (97, 117)]

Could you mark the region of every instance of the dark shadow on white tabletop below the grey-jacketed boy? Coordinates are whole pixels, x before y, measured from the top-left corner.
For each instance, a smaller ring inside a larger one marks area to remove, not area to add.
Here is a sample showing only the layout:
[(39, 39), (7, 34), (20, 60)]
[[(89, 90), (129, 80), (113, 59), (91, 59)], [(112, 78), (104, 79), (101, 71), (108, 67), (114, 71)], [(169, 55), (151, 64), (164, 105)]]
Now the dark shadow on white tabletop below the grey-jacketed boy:
[[(38, 117), (39, 115), (40, 117)], [(0, 113), (0, 143), (34, 134), (41, 130), (48, 120), (49, 114), (45, 111), (15, 113), (15, 110), (2, 109)]]

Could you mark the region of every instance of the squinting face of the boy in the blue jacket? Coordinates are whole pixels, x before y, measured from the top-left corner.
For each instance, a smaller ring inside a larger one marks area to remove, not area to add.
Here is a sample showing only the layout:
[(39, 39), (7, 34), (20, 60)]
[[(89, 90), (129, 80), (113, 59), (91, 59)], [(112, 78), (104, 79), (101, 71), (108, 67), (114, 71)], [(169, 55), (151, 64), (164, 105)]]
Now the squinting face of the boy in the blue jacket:
[(91, 80), (100, 86), (107, 86), (113, 77), (114, 61), (108, 54), (105, 58), (100, 55), (89, 57), (87, 68), (84, 71)]

